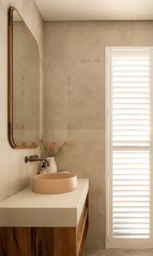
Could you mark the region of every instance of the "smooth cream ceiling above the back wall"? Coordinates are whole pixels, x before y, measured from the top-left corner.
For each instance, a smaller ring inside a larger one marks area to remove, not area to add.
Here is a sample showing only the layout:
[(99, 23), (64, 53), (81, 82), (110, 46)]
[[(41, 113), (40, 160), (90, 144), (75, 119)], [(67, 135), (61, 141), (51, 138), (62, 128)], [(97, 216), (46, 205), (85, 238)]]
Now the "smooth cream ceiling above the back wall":
[(153, 0), (35, 0), (45, 21), (153, 20)]

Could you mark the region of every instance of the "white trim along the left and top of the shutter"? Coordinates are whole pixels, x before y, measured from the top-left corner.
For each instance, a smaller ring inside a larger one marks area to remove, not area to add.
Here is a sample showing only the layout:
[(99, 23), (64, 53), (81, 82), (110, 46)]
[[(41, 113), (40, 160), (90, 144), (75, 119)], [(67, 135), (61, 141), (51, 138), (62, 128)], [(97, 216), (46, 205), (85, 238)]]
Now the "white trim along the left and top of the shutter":
[[(109, 248), (109, 154), (108, 154), (108, 148), (109, 148), (109, 125), (108, 125), (108, 115), (109, 115), (109, 63), (108, 63), (108, 56), (109, 56), (109, 50), (114, 49), (149, 49), (153, 50), (153, 47), (105, 47), (105, 177), (106, 177), (106, 249)], [(153, 82), (153, 76), (151, 77), (151, 81)], [(153, 96), (153, 90), (151, 92), (151, 95)], [(151, 96), (151, 97), (152, 97)], [(153, 109), (153, 106), (152, 106)], [(153, 146), (152, 146), (153, 147)], [(152, 148), (153, 150), (153, 148)], [(153, 165), (152, 165), (153, 166)], [(152, 184), (153, 185), (153, 184)], [(150, 188), (152, 188), (150, 184)], [(151, 193), (153, 193), (153, 188), (150, 190)], [(152, 220), (153, 221), (153, 220)], [(152, 222), (150, 221), (150, 222)]]

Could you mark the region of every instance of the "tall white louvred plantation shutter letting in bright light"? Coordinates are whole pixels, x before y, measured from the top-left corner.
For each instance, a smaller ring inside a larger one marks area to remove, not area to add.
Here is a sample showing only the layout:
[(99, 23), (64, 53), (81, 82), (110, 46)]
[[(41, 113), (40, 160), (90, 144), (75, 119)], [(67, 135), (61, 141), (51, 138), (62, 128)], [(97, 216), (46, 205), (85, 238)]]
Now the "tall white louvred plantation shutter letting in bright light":
[(110, 248), (152, 245), (149, 51), (115, 49), (110, 53)]

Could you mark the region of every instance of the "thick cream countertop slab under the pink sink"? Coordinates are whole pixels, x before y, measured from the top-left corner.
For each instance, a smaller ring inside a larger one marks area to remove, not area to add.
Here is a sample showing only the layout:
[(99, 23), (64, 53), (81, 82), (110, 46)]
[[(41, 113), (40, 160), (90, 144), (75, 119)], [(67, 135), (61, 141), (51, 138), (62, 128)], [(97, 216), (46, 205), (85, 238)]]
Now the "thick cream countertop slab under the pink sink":
[(78, 179), (76, 190), (58, 195), (36, 194), (28, 187), (0, 203), (0, 226), (77, 226), (88, 189), (87, 178)]

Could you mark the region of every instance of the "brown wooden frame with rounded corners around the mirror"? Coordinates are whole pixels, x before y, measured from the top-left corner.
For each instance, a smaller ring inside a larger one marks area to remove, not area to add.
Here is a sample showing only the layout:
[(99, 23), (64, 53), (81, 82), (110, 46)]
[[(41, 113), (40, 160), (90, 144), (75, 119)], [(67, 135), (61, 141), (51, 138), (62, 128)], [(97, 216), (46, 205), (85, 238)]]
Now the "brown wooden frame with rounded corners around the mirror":
[[(9, 79), (9, 83), (8, 83), (8, 87), (9, 87), (8, 88), (8, 92), (9, 92), (9, 95), (8, 95), (8, 102), (9, 102), (8, 133), (9, 133), (9, 142), (10, 142), (10, 145), (14, 149), (37, 148), (39, 146), (39, 144), (38, 144), (38, 146), (16, 146), (14, 143), (14, 140), (13, 140), (13, 11), (14, 10), (18, 13), (20, 18), (22, 19), (21, 15), (19, 14), (18, 10), (15, 7), (9, 8), (9, 15), (8, 15), (8, 18), (9, 18), (9, 20), (8, 20), (8, 25), (9, 25), (9, 31), (8, 31), (8, 47), (9, 47), (9, 49), (8, 49), (9, 50), (9, 52), (8, 52), (8, 71), (9, 71), (8, 72), (8, 79)], [(24, 22), (24, 20), (23, 20), (23, 22)], [(26, 24), (25, 24), (25, 26), (27, 27)], [(29, 28), (28, 28), (28, 30), (29, 30)], [(31, 33), (31, 31), (30, 31), (30, 33)], [(32, 36), (33, 36), (33, 34), (32, 34)], [(34, 38), (34, 36), (33, 36), (33, 38)], [(36, 39), (35, 39), (35, 41), (36, 41)], [(39, 49), (39, 47), (38, 47), (38, 49)]]

